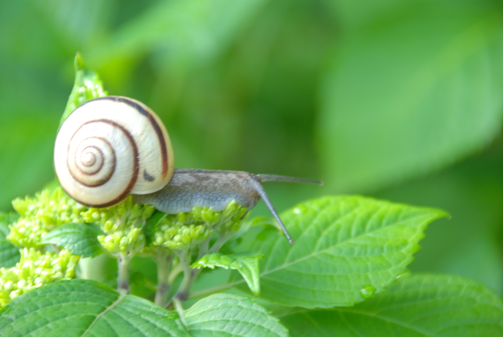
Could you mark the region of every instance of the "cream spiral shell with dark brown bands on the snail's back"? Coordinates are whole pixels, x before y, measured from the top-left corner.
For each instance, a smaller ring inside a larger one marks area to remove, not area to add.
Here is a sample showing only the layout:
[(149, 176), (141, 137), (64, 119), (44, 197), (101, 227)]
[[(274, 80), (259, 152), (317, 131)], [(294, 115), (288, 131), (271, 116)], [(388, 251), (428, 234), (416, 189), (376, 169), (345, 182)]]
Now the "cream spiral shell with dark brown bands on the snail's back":
[(54, 145), (61, 186), (79, 203), (95, 207), (161, 189), (173, 175), (173, 160), (162, 121), (127, 97), (80, 105), (61, 125)]

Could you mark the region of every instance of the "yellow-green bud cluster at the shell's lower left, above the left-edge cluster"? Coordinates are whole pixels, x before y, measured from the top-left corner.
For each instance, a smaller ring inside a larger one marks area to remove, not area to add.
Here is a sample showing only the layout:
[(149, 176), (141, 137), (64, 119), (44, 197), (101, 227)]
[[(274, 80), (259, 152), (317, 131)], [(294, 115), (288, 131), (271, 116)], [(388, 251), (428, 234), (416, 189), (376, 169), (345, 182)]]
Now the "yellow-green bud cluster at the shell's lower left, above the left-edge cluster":
[(41, 247), (40, 241), (47, 233), (63, 224), (81, 222), (80, 212), (86, 209), (61, 187), (14, 199), (12, 206), (21, 217), (11, 226), (7, 239), (24, 247)]

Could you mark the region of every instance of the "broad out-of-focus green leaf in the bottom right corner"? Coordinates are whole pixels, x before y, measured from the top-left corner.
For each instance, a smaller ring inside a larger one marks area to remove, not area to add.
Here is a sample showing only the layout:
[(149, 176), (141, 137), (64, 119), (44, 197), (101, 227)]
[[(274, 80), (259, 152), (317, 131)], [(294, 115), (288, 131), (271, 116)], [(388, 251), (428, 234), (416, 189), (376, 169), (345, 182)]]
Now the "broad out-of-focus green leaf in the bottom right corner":
[(503, 301), (489, 288), (454, 276), (405, 278), (352, 308), (298, 310), (280, 318), (299, 337), (333, 331), (347, 337), (503, 336)]

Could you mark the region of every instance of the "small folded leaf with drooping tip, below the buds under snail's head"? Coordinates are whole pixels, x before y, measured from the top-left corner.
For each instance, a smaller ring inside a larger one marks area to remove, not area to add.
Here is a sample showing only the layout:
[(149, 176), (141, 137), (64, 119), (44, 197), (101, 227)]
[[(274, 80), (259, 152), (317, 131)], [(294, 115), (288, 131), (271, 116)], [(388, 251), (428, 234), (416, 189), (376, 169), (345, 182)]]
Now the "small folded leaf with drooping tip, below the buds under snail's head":
[(264, 258), (261, 252), (244, 252), (230, 255), (222, 253), (208, 253), (194, 262), (191, 268), (223, 267), (237, 270), (248, 288), (255, 295), (260, 295), (259, 260)]

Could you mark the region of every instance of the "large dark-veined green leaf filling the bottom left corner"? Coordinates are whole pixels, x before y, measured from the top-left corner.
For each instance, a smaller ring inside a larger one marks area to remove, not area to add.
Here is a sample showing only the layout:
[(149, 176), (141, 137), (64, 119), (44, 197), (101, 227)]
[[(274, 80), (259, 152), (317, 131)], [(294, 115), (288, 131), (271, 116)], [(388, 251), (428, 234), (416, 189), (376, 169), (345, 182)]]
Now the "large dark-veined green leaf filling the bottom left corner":
[(0, 335), (187, 336), (178, 315), (95, 281), (69, 280), (36, 288), (0, 312)]

